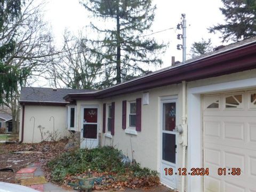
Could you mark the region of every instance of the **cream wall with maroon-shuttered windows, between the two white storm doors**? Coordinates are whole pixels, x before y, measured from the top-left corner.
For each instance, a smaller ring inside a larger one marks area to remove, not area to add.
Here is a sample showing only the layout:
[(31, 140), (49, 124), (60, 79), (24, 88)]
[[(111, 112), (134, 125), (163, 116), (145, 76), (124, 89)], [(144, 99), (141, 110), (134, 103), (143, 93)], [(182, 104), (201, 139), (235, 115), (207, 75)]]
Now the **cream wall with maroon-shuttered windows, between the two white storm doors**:
[[(136, 92), (132, 94), (120, 95), (118, 97), (104, 99), (102, 101), (77, 101), (77, 123), (78, 129), (81, 130), (81, 105), (99, 105), (100, 111), (100, 132), (102, 132), (102, 107), (103, 103), (110, 104), (115, 102), (115, 135), (113, 138), (105, 137), (102, 134), (102, 145), (110, 145), (122, 150), (123, 153), (129, 158), (133, 158), (140, 163), (143, 167), (149, 167), (152, 170), (160, 172), (160, 127), (161, 117), (161, 98), (177, 95), (178, 103), (178, 119), (177, 124), (182, 122), (182, 92), (181, 84), (160, 87), (156, 89), (148, 90), (149, 92), (149, 105), (143, 105), (141, 107), (141, 132), (138, 135), (131, 135), (125, 133), (122, 129), (122, 101), (135, 101), (137, 98), (142, 98), (143, 92)], [(145, 91), (146, 92), (146, 91)], [(107, 109), (106, 109), (107, 110)], [(126, 114), (128, 118), (129, 114)], [(126, 125), (127, 126), (127, 125)], [(107, 130), (107, 122), (106, 122)], [(179, 153), (180, 151), (180, 153)], [(178, 145), (178, 167), (181, 167), (181, 146)], [(178, 183), (179, 185), (179, 183)]]

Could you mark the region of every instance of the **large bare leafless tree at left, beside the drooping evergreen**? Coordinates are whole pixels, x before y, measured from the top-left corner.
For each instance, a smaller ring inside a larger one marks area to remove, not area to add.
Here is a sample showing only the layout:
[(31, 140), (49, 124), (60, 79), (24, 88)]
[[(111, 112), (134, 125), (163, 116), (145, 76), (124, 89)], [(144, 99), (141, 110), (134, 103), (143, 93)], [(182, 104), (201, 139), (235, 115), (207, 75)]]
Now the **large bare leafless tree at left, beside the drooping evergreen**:
[[(13, 39), (14, 50), (5, 58), (5, 65), (12, 66), (23, 71), (23, 85), (28, 85), (28, 80), (33, 76), (40, 76), (47, 69), (47, 63), (54, 54), (51, 46), (52, 36), (47, 30), (46, 23), (42, 21), (43, 4), (35, 4), (34, 1), (26, 1), (21, 9), (18, 19), (6, 23), (1, 41)], [(3, 103), (11, 109), (13, 118), (13, 133), (19, 130), (19, 97), (20, 88), (11, 95), (5, 95)]]

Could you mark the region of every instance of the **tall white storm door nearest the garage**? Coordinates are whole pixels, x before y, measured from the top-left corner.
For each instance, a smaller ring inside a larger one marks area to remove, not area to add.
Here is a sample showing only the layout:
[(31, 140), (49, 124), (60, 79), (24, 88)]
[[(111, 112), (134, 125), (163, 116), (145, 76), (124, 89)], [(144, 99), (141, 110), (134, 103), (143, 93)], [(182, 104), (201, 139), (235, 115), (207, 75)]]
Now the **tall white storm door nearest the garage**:
[[(162, 101), (161, 126), (161, 182), (174, 189), (177, 188), (177, 133), (176, 126), (176, 100)], [(169, 169), (173, 174), (169, 174)]]

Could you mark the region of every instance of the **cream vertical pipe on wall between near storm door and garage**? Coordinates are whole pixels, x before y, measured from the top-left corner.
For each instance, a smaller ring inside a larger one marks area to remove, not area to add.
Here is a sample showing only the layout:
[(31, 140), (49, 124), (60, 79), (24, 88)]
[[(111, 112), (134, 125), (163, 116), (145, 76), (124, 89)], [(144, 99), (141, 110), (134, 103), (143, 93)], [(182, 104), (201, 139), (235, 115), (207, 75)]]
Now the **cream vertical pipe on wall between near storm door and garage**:
[[(182, 168), (186, 167), (186, 148), (188, 146), (188, 125), (187, 125), (187, 93), (186, 81), (182, 81)], [(185, 192), (185, 175), (181, 176), (181, 192)]]

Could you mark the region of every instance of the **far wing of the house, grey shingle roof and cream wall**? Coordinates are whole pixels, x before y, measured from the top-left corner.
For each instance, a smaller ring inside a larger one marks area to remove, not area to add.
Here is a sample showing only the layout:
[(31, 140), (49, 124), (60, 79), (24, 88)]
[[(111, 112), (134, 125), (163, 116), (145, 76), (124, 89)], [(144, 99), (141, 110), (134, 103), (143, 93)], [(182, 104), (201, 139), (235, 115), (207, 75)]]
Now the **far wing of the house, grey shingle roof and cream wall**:
[(69, 135), (66, 129), (68, 93), (92, 90), (22, 87), (20, 93), (20, 141), (25, 143), (55, 140)]

